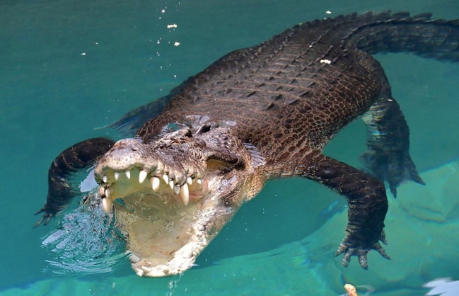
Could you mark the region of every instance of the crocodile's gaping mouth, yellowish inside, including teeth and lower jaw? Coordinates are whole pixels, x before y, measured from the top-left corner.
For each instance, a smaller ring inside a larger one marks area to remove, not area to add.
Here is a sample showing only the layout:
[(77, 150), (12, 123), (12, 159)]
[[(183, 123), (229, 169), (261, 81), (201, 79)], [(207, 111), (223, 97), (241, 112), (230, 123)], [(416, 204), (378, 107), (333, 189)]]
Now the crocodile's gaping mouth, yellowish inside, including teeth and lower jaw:
[(188, 175), (161, 164), (151, 171), (103, 169), (97, 177), (103, 208), (110, 212), (113, 207), (137, 275), (175, 275), (193, 266), (221, 221), (232, 216), (216, 194), (221, 169), (230, 165), (208, 161), (205, 176), (204, 171)]

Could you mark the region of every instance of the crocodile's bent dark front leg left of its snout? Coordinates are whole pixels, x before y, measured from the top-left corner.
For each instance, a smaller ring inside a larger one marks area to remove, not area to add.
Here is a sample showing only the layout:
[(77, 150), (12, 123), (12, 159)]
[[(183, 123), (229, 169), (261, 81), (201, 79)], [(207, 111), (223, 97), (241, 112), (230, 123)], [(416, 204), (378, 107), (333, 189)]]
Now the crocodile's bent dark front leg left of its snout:
[(48, 195), (45, 205), (35, 215), (44, 213), (35, 224), (47, 224), (52, 217), (65, 209), (76, 195), (69, 178), (72, 173), (91, 166), (95, 161), (108, 152), (115, 142), (108, 138), (93, 138), (74, 144), (61, 152), (48, 171)]

